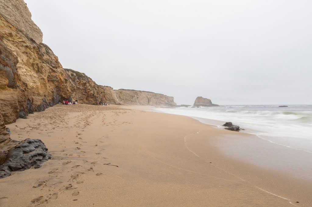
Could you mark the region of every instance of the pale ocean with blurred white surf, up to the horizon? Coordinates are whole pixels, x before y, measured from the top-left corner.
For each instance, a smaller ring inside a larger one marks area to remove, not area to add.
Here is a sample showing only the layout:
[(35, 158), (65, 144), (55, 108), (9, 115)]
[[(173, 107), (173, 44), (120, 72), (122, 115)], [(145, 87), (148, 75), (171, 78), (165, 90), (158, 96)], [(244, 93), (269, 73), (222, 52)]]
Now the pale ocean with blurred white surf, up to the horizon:
[(193, 117), (220, 128), (225, 122), (233, 122), (259, 139), (312, 153), (312, 105), (223, 105), (155, 108), (155, 111)]

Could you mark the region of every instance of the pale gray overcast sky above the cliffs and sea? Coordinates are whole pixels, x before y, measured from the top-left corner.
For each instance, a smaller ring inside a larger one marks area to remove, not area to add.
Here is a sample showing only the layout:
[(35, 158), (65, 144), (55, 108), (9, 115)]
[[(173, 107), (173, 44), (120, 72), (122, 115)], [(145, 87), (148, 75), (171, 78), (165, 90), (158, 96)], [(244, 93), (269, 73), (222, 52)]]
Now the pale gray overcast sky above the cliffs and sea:
[(64, 68), (193, 104), (312, 104), (312, 1), (25, 0)]

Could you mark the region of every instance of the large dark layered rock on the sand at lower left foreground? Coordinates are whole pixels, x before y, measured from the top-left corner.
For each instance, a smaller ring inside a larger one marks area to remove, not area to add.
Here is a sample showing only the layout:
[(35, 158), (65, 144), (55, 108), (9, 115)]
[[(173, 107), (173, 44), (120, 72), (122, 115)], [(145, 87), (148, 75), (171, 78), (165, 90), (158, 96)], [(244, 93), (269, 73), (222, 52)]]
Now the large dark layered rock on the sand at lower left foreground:
[(41, 140), (26, 139), (10, 142), (0, 151), (0, 178), (11, 175), (12, 171), (40, 168), (41, 164), (51, 159), (51, 154)]

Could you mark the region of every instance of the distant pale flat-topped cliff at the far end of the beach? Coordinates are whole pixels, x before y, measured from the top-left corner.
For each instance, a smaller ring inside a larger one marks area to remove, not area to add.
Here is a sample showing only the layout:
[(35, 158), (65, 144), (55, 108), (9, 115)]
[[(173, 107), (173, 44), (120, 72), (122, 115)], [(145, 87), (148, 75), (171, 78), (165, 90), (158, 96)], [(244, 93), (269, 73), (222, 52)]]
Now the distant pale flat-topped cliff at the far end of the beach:
[(152, 105), (152, 106), (176, 106), (174, 98), (164, 94), (156, 94), (140, 90), (115, 90), (117, 99), (123, 104)]

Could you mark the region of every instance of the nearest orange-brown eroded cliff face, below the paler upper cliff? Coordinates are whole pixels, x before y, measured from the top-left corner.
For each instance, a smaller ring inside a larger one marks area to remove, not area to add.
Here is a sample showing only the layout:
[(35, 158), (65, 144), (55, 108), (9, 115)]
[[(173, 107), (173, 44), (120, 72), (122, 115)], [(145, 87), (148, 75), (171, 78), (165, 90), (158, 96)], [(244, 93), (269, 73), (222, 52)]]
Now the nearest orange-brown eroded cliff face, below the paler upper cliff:
[[(2, 14), (1, 11), (0, 14)], [(66, 73), (51, 49), (0, 15), (0, 113), (12, 123), (69, 97)]]

